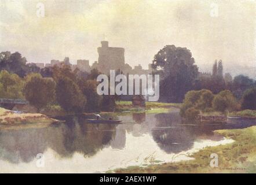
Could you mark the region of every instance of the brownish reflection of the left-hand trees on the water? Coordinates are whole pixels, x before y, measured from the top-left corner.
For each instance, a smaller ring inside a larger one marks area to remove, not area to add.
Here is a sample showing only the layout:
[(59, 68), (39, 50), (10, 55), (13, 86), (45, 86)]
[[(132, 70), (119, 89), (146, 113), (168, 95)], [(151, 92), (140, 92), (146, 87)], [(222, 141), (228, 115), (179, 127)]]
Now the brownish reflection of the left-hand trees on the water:
[(115, 137), (114, 124), (88, 124), (79, 117), (46, 128), (0, 131), (0, 158), (13, 163), (30, 162), (48, 148), (60, 157), (81, 153), (90, 157)]

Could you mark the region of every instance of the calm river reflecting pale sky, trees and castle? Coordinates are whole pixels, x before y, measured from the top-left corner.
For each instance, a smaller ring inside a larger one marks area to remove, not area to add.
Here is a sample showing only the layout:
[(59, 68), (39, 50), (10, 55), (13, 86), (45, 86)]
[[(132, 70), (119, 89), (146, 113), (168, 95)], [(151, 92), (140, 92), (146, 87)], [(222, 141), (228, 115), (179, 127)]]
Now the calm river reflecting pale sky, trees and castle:
[(0, 130), (0, 172), (100, 173), (127, 166), (192, 160), (206, 146), (231, 143), (215, 129), (245, 128), (255, 120), (228, 124), (182, 123), (178, 110), (118, 116), (123, 124), (90, 124), (82, 117), (39, 128)]

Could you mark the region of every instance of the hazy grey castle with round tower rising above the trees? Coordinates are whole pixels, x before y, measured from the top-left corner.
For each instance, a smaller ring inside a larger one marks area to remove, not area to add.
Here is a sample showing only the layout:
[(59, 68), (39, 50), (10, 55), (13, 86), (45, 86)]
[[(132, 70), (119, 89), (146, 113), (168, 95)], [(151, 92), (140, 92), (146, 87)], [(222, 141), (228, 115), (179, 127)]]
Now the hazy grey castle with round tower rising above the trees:
[(83, 72), (90, 72), (92, 69), (98, 69), (98, 71), (109, 74), (111, 69), (120, 70), (124, 74), (149, 74), (152, 71), (151, 64), (147, 69), (142, 69), (142, 66), (138, 64), (134, 66), (134, 69), (127, 63), (125, 63), (125, 49), (123, 47), (109, 47), (108, 41), (101, 41), (101, 47), (98, 47), (98, 61), (95, 61), (92, 66), (89, 65), (89, 60), (77, 60), (76, 65), (70, 64), (68, 57), (65, 57), (64, 61), (51, 60), (50, 64), (34, 63), (39, 68), (50, 67), (54, 65), (60, 65), (62, 63), (70, 65), (72, 70), (78, 68)]

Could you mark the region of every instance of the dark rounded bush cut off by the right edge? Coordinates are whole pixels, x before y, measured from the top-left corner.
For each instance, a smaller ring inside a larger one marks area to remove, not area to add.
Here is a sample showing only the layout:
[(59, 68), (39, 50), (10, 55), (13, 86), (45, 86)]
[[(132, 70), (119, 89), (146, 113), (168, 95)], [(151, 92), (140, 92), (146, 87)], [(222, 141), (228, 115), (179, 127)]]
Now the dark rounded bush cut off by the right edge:
[(256, 87), (250, 88), (243, 93), (242, 109), (256, 110)]

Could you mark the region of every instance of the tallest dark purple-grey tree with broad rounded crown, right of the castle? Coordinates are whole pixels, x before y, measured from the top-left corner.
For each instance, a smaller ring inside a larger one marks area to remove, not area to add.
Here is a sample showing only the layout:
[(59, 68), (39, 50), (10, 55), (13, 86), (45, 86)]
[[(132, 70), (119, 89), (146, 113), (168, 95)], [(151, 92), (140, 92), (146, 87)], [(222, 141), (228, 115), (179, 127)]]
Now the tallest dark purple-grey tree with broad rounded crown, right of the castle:
[(185, 93), (192, 90), (198, 76), (191, 51), (174, 45), (164, 46), (158, 51), (152, 68), (161, 77), (160, 101), (181, 102)]

